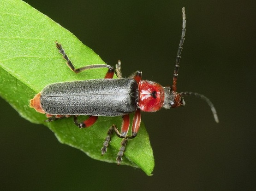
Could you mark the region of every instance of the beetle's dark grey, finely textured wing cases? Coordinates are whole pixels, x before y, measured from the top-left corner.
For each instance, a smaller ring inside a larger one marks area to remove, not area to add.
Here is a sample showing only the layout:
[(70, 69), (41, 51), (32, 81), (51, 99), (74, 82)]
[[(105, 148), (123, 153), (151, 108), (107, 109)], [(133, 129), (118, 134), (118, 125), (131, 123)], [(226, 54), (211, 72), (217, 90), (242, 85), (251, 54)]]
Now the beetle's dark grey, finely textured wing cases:
[(52, 115), (120, 116), (137, 109), (134, 79), (91, 79), (50, 84), (41, 93), (43, 110)]

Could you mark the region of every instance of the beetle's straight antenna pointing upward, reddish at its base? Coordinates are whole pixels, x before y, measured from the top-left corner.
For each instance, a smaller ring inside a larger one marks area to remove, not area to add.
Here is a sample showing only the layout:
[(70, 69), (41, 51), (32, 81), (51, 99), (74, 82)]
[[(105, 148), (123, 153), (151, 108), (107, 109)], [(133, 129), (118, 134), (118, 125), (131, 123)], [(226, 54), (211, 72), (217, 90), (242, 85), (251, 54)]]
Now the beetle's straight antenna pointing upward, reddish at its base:
[(186, 15), (185, 15), (185, 7), (182, 8), (182, 18), (183, 18), (183, 22), (182, 22), (182, 33), (181, 33), (181, 38), (179, 41), (179, 48), (178, 48), (178, 53), (177, 53), (177, 57), (176, 57), (176, 62), (175, 62), (175, 66), (174, 66), (174, 73), (173, 73), (173, 86), (172, 86), (172, 91), (176, 92), (176, 83), (177, 83), (177, 78), (178, 78), (178, 71), (179, 71), (179, 61), (181, 58), (181, 51), (182, 51), (182, 45), (184, 43), (185, 40), (185, 32), (186, 32)]

